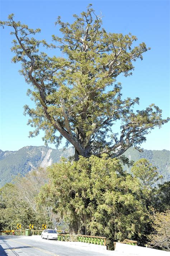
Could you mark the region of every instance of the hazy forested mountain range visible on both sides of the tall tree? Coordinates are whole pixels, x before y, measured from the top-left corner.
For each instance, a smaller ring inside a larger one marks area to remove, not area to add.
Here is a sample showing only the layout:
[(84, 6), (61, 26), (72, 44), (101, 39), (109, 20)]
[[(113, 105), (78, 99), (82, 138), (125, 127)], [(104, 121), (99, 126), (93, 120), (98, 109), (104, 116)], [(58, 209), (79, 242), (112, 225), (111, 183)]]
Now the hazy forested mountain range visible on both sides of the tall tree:
[[(45, 146), (26, 146), (18, 151), (0, 150), (0, 187), (17, 175), (25, 175), (38, 166), (47, 167), (60, 161), (61, 157), (68, 158), (74, 154), (74, 148), (53, 149)], [(170, 151), (168, 150), (143, 150), (139, 152), (129, 148), (124, 155), (130, 160), (137, 161), (146, 158), (157, 167), (163, 176), (162, 182), (170, 180)], [(123, 166), (128, 172), (130, 168)]]

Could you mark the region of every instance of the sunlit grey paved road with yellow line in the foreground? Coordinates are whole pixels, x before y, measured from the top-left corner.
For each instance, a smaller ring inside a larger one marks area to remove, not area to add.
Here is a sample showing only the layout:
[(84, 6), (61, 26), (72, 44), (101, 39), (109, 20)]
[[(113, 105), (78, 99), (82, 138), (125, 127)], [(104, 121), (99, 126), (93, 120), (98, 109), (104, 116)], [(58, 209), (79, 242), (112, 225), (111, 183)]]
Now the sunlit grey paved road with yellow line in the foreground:
[(0, 236), (0, 256), (121, 256), (104, 246), (79, 242), (47, 241), (39, 236)]

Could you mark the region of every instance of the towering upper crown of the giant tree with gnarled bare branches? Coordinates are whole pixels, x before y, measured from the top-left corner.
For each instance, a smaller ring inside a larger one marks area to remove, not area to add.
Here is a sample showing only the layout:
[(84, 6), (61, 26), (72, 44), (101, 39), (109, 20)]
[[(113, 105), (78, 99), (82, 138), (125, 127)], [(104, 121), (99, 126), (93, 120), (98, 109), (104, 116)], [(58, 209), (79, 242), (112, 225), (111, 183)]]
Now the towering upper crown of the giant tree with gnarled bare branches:
[[(131, 146), (140, 146), (150, 129), (167, 122), (154, 104), (134, 113), (132, 108), (139, 99), (121, 99), (121, 84), (116, 83), (119, 74), (132, 74), (133, 61), (142, 59), (149, 48), (144, 42), (134, 46), (137, 37), (131, 33), (106, 32), (101, 28), (102, 16), (96, 15), (91, 5), (74, 18), (69, 24), (58, 17), (62, 37), (53, 35), (54, 44), (34, 38), (41, 30), (15, 22), (13, 14), (1, 22), (1, 26), (13, 28), (12, 61), (21, 62), (20, 73), (32, 86), (28, 95), (36, 108), (24, 106), (30, 116), (28, 124), (35, 128), (30, 137), (42, 129), (43, 140), (56, 146), (64, 137), (66, 145), (75, 148), (75, 160), (79, 155), (103, 153), (117, 157)], [(59, 48), (63, 55), (51, 57), (42, 46), (53, 51)], [(119, 137), (114, 131), (118, 120)]]

